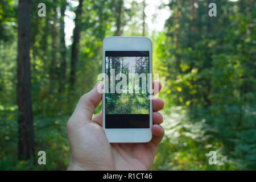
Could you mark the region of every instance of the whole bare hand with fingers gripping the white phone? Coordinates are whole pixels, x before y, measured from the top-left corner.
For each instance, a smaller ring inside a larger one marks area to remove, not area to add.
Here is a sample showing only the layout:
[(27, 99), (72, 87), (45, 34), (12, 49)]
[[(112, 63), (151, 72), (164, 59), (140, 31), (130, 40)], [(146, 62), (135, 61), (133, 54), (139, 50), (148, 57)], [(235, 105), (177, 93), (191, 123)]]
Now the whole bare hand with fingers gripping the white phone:
[[(159, 124), (163, 117), (157, 111), (162, 110), (164, 102), (160, 98), (153, 100), (152, 140), (148, 143), (112, 143), (108, 142), (102, 129), (102, 113), (92, 118), (94, 109), (100, 104), (102, 94), (96, 86), (82, 96), (67, 123), (71, 160), (68, 170), (150, 170), (156, 150), (164, 135)], [(154, 85), (159, 82), (153, 81)], [(155, 94), (159, 90), (154, 90)]]

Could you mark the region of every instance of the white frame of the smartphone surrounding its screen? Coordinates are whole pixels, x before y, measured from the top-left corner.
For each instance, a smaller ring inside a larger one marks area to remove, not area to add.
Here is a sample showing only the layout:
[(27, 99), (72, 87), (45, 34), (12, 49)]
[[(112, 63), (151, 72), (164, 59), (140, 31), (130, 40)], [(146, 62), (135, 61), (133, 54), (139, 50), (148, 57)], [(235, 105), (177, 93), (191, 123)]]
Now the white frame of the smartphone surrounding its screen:
[[(105, 51), (149, 51), (149, 73), (152, 73), (152, 42), (142, 36), (110, 36), (102, 42), (102, 73), (105, 73)], [(104, 84), (104, 83), (103, 83)], [(105, 87), (104, 87), (105, 88)], [(152, 93), (152, 82), (149, 84)], [(110, 143), (147, 143), (152, 139), (152, 100), (150, 127), (146, 129), (106, 129), (105, 93), (102, 93), (102, 127)]]

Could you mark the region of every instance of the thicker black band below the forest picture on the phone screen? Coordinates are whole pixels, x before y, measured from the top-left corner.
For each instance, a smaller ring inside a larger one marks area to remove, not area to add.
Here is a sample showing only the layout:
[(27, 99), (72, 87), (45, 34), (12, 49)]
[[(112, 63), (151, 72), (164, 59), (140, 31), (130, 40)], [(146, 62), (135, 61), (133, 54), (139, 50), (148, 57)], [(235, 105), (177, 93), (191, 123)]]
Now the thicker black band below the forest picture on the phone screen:
[(148, 129), (149, 114), (106, 114), (106, 129)]

